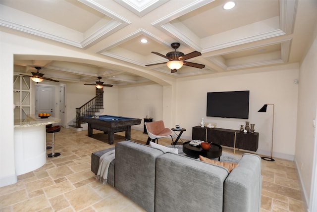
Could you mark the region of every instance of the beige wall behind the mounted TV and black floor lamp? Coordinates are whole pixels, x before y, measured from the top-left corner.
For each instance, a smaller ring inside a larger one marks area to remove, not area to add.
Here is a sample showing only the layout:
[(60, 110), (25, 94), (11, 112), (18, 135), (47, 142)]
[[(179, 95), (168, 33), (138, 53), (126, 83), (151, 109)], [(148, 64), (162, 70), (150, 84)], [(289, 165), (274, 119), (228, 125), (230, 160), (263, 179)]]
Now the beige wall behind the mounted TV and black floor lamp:
[[(272, 107), (266, 113), (258, 110), (264, 104), (275, 104), (273, 156), (293, 159), (295, 154), (298, 64), (251, 69), (242, 74), (219, 74), (196, 80), (180, 79), (177, 84), (177, 124), (191, 137), (192, 127), (205, 122), (217, 123), (219, 128), (236, 129), (245, 121), (255, 124), (259, 132), (258, 153), (270, 155)], [(207, 92), (250, 91), (249, 119), (206, 116)], [(186, 115), (184, 115), (186, 114)], [(293, 115), (290, 115), (293, 114)], [(293, 130), (289, 130), (293, 129)]]

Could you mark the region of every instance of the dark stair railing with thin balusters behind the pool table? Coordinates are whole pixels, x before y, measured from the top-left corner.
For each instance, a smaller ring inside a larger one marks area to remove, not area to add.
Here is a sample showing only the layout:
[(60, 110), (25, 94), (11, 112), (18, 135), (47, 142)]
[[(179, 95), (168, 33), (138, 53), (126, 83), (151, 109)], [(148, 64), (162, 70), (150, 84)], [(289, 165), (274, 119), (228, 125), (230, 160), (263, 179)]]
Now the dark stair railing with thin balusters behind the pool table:
[(79, 117), (84, 115), (95, 115), (96, 112), (99, 112), (99, 109), (103, 109), (104, 105), (100, 102), (103, 100), (104, 92), (96, 95), (93, 99), (89, 100), (81, 107), (76, 108), (76, 127), (80, 127)]

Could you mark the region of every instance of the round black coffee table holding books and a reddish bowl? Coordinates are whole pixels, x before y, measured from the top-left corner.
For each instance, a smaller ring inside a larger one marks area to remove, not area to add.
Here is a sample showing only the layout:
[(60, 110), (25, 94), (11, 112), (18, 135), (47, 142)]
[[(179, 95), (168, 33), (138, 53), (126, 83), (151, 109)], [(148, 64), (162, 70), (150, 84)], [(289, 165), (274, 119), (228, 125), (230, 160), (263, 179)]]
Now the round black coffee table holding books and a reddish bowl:
[(222, 147), (218, 144), (211, 143), (211, 148), (209, 150), (204, 150), (201, 146), (195, 147), (189, 144), (190, 141), (185, 142), (183, 145), (183, 152), (188, 156), (193, 158), (199, 158), (203, 156), (209, 159), (218, 158), (220, 161), (220, 156), (222, 155)]

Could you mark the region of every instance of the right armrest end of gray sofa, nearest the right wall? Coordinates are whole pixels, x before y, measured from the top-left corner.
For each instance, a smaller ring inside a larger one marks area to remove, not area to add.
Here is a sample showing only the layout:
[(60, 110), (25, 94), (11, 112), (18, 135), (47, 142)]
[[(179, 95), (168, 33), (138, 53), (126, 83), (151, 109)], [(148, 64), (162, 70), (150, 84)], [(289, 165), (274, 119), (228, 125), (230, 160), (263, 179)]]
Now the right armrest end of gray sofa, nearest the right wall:
[(246, 153), (224, 182), (223, 212), (259, 212), (261, 192), (261, 158)]

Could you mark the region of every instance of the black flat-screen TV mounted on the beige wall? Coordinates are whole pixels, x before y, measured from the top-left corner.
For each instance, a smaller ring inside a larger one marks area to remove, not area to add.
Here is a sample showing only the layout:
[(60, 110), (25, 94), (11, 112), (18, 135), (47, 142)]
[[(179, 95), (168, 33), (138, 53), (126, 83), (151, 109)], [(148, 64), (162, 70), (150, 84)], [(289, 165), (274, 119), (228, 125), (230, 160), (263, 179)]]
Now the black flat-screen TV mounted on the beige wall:
[(207, 116), (249, 118), (250, 91), (207, 93)]

